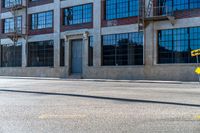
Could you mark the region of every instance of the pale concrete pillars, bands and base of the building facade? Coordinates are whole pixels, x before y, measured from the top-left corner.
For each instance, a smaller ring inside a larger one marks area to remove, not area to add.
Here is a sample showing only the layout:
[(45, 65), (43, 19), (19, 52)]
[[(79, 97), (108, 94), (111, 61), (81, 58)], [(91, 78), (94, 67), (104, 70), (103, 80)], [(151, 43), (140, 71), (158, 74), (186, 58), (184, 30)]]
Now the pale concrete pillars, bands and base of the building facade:
[[(79, 29), (60, 32), (60, 8), (70, 7), (93, 2), (93, 29)], [(45, 76), (70, 78), (70, 41), (83, 39), (83, 78), (109, 78), (109, 79), (156, 79), (156, 80), (182, 80), (197, 81), (194, 74), (196, 64), (157, 64), (157, 30), (181, 27), (200, 26), (200, 17), (176, 20), (175, 25), (169, 21), (150, 23), (144, 31), (144, 65), (141, 66), (101, 66), (101, 35), (137, 32), (137, 24), (101, 27), (101, 1), (100, 0), (54, 0), (54, 3), (28, 8), (28, 14), (54, 10), (54, 33), (34, 35), (28, 37), (28, 42), (54, 40), (54, 67), (26, 67), (26, 57), (23, 57), (21, 68), (0, 68), (0, 75), (13, 76)], [(9, 13), (3, 13), (5, 18)], [(88, 36), (94, 37), (94, 65), (88, 66)], [(65, 39), (65, 67), (59, 66), (60, 39)], [(9, 40), (1, 40), (7, 43)], [(25, 53), (25, 42), (23, 53)], [(23, 54), (26, 56), (26, 54)]]

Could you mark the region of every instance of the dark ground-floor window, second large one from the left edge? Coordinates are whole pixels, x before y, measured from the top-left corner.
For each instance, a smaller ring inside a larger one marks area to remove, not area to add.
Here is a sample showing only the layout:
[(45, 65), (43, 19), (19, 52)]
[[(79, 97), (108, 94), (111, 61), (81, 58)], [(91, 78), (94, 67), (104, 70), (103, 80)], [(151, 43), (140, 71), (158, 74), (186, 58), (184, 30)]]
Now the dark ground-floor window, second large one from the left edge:
[(28, 66), (53, 66), (53, 41), (31, 42), (28, 44)]

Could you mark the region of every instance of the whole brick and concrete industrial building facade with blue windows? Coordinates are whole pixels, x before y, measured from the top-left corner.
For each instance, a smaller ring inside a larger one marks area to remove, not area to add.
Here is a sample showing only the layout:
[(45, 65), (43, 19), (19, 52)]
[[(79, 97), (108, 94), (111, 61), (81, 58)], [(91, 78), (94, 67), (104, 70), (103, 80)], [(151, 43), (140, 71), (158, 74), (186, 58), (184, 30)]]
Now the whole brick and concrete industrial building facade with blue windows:
[(0, 4), (0, 75), (198, 80), (200, 0)]

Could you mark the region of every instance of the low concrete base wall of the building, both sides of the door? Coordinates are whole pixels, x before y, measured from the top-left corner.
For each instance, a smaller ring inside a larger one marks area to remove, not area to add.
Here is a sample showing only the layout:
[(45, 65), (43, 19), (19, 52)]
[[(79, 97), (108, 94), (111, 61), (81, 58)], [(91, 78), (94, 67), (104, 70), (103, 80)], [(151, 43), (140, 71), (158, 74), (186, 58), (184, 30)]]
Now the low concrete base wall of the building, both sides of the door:
[[(89, 79), (198, 81), (197, 75), (194, 74), (195, 68), (195, 66), (187, 65), (89, 67), (84, 70), (82, 77)], [(0, 76), (70, 78), (67, 67), (1, 68)]]

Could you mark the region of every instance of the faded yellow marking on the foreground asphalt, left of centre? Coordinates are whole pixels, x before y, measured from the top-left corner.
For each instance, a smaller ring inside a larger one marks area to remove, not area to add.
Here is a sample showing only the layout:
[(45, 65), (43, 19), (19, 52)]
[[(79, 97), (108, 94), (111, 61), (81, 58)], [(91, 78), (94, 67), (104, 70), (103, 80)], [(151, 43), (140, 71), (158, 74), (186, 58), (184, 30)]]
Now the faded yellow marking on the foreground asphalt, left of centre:
[(42, 114), (39, 119), (79, 119), (85, 118), (86, 115), (56, 115), (56, 114)]

